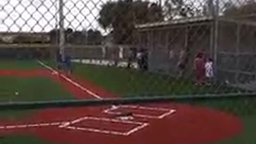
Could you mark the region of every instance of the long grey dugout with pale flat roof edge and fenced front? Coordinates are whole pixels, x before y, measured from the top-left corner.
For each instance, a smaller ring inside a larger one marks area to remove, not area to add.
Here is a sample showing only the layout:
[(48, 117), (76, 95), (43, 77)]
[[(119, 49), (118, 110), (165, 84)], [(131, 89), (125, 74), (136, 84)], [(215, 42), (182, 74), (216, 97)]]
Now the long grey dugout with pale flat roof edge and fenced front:
[[(193, 60), (204, 51), (214, 60), (217, 81), (255, 81), (256, 22), (245, 19), (194, 17), (137, 25), (138, 47), (149, 50), (149, 70), (178, 75), (178, 63), (186, 59), (183, 76), (193, 75)], [(185, 57), (181, 55), (186, 53)]]

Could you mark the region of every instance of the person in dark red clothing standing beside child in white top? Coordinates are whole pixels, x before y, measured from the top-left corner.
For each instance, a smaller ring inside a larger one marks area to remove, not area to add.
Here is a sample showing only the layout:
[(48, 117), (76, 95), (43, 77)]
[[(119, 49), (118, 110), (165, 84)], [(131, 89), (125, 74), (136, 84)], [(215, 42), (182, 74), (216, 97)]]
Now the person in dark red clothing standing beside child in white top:
[(202, 52), (196, 55), (194, 69), (196, 73), (196, 85), (203, 85), (205, 81), (205, 60)]

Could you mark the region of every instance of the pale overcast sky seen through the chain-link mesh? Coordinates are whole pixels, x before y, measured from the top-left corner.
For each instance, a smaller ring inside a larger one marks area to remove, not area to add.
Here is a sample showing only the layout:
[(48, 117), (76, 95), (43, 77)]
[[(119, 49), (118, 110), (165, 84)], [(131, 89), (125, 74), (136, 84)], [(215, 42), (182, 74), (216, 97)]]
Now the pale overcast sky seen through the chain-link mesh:
[[(101, 5), (108, 0), (63, 0), (65, 28), (74, 30), (99, 29), (97, 19)], [(158, 1), (158, 0), (150, 0)], [(164, 0), (162, 0), (164, 1)], [(203, 0), (187, 0), (200, 4)], [(221, 2), (226, 0), (219, 0)], [(246, 0), (231, 0), (246, 1)], [(58, 23), (57, 0), (0, 0), (0, 31), (45, 32)]]

